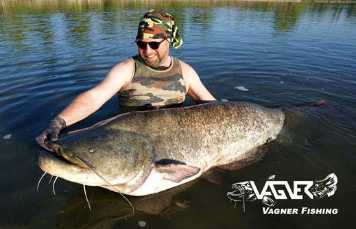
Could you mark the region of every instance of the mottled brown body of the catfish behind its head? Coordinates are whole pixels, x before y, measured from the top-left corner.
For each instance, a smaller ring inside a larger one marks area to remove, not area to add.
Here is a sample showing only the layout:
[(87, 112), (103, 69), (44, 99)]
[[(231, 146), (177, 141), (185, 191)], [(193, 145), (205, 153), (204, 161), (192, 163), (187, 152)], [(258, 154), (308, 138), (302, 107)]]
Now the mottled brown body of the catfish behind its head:
[(281, 110), (257, 104), (214, 103), (133, 112), (125, 121), (103, 128), (140, 133), (154, 145), (156, 160), (172, 158), (205, 170), (233, 162), (276, 139), (284, 119)]

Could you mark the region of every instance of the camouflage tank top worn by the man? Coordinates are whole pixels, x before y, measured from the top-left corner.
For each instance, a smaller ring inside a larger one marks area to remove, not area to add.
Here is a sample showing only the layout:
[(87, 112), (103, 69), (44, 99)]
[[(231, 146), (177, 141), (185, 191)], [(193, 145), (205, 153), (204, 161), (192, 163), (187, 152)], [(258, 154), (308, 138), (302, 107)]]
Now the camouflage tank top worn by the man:
[(177, 58), (171, 57), (171, 66), (163, 71), (147, 67), (139, 55), (130, 60), (134, 73), (130, 82), (118, 92), (121, 106), (160, 108), (185, 101), (187, 88)]

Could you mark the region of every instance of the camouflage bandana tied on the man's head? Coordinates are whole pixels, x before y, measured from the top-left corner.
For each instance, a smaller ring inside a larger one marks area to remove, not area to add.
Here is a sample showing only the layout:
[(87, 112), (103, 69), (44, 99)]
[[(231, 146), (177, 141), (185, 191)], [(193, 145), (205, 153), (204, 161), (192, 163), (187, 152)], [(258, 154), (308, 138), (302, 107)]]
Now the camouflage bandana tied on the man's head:
[(158, 10), (150, 10), (143, 15), (137, 30), (136, 38), (167, 39), (174, 49), (177, 49), (183, 43), (173, 16), (161, 13)]

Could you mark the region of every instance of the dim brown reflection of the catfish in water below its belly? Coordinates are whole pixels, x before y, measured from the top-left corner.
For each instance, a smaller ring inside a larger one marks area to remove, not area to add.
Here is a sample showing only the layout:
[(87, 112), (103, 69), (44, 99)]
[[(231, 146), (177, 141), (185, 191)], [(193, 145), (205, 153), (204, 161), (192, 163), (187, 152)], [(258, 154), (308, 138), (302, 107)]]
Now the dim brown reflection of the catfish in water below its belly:
[[(131, 217), (138, 218), (145, 214), (158, 215), (167, 219), (169, 215), (189, 208), (190, 199), (185, 195), (185, 191), (198, 180), (153, 195), (128, 196), (128, 200), (134, 206), (133, 215), (130, 204), (119, 193), (108, 192), (103, 189), (89, 188), (88, 201), (92, 209), (92, 211), (89, 211), (84, 193), (82, 189), (78, 189), (67, 200), (67, 204), (59, 217), (58, 226), (64, 228), (112, 228), (120, 221), (126, 221)], [(79, 215), (78, 212), (81, 212), (81, 214)]]

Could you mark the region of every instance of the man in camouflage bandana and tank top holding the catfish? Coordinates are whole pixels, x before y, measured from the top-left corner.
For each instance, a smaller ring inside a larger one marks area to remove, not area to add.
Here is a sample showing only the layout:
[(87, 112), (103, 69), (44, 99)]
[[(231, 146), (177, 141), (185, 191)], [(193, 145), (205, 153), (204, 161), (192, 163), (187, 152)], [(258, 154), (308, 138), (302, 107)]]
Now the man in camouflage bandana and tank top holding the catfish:
[(49, 149), (45, 139), (57, 141), (63, 128), (85, 119), (116, 93), (121, 105), (145, 109), (181, 104), (185, 94), (196, 104), (215, 100), (193, 68), (168, 55), (169, 43), (173, 48), (182, 45), (173, 16), (157, 10), (147, 12), (139, 23), (136, 43), (139, 55), (117, 64), (102, 82), (80, 94), (52, 119), (36, 138), (40, 147)]

